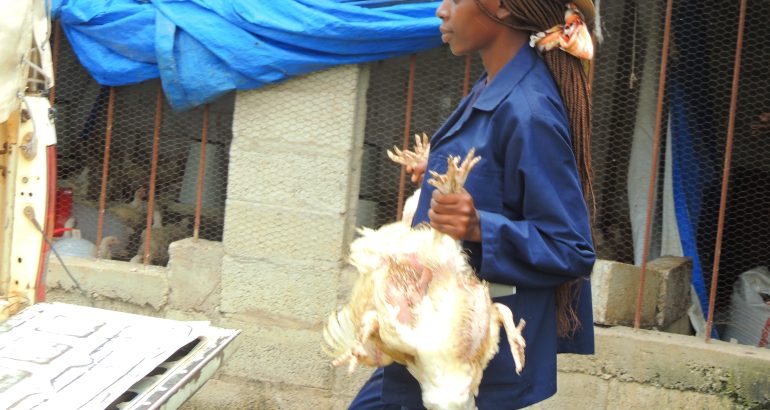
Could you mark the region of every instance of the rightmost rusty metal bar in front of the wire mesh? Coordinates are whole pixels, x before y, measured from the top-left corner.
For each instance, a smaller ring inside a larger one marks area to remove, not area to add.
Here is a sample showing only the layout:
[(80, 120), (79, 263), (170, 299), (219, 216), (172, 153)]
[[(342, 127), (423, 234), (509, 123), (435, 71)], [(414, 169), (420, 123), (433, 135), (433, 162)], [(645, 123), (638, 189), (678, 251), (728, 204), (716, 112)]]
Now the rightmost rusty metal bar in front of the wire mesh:
[(714, 245), (714, 268), (711, 272), (711, 290), (709, 292), (709, 313), (706, 319), (706, 342), (711, 341), (711, 329), (714, 324), (714, 301), (717, 296), (717, 280), (719, 279), (719, 258), (722, 256), (722, 233), (725, 226), (725, 209), (727, 208), (727, 188), (730, 182), (730, 162), (733, 156), (733, 138), (735, 136), (735, 112), (738, 108), (738, 86), (741, 82), (741, 54), (743, 53), (743, 31), (746, 26), (746, 0), (741, 0), (741, 12), (738, 20), (738, 39), (735, 49), (735, 66), (733, 68), (732, 93), (730, 95), (730, 119), (727, 125), (727, 141), (725, 142), (725, 165), (722, 170), (722, 198), (719, 201), (719, 222), (717, 223), (717, 241)]

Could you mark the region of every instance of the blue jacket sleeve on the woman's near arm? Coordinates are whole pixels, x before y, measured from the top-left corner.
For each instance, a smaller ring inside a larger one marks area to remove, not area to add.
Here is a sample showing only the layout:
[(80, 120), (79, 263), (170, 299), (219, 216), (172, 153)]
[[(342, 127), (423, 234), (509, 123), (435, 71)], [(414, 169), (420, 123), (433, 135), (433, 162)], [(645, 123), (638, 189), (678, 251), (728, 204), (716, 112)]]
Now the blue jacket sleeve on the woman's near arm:
[(490, 282), (555, 287), (595, 260), (569, 131), (547, 116), (516, 125), (505, 144), (502, 213), (479, 211), (481, 266)]

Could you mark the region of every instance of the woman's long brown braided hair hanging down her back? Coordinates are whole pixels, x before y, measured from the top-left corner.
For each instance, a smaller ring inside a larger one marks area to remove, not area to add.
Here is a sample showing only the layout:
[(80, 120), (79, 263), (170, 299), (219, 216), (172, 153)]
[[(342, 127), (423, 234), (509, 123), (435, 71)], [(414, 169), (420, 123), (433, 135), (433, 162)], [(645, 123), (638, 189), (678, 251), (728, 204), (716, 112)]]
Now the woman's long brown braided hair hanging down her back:
[[(502, 0), (503, 6), (512, 16), (506, 21), (497, 19), (483, 4), (476, 0), (479, 8), (493, 20), (526, 32), (545, 31), (555, 25), (564, 24), (564, 2), (559, 0)], [(527, 46), (525, 46), (527, 47)], [(588, 205), (590, 220), (594, 215), (593, 168), (591, 167), (591, 94), (583, 63), (561, 50), (543, 54), (543, 60), (559, 87), (572, 131), (572, 149), (577, 161), (578, 175), (583, 196)], [(580, 281), (573, 280), (556, 290), (557, 333), (569, 336), (580, 326), (573, 301), (580, 290)]]

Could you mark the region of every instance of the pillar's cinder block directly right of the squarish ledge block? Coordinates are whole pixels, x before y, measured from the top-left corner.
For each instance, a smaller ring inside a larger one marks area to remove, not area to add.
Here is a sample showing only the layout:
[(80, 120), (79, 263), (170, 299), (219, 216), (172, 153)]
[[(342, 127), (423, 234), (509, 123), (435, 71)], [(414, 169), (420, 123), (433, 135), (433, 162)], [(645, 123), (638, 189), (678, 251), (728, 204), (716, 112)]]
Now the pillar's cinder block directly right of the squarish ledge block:
[(249, 313), (286, 327), (318, 328), (337, 305), (340, 265), (224, 258), (222, 312)]

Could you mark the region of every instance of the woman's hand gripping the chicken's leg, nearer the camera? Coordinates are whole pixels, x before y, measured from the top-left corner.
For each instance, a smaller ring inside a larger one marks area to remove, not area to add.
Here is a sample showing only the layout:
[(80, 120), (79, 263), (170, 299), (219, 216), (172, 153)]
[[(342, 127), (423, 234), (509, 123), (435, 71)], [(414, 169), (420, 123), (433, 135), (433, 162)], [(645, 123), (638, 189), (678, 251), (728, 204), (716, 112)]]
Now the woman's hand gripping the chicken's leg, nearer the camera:
[(456, 194), (433, 191), (428, 218), (430, 226), (456, 240), (481, 242), (479, 213), (465, 190)]

